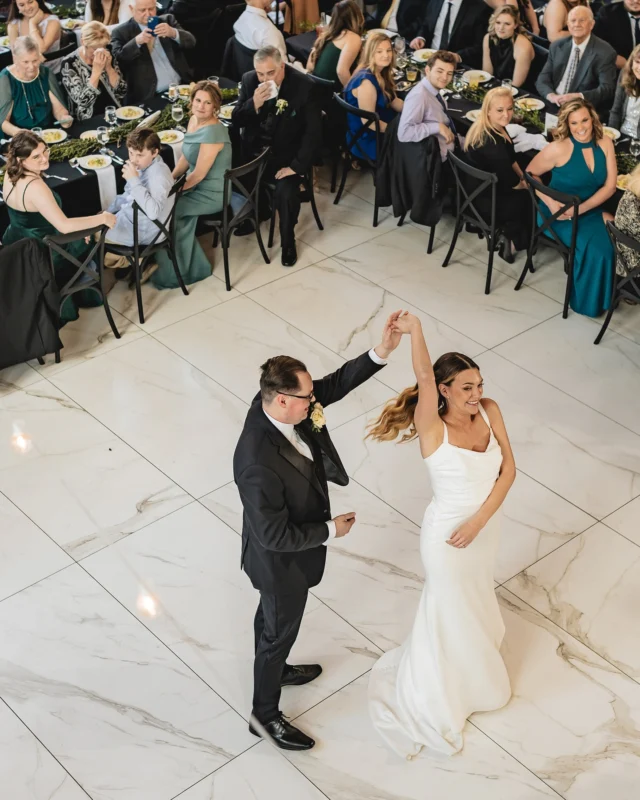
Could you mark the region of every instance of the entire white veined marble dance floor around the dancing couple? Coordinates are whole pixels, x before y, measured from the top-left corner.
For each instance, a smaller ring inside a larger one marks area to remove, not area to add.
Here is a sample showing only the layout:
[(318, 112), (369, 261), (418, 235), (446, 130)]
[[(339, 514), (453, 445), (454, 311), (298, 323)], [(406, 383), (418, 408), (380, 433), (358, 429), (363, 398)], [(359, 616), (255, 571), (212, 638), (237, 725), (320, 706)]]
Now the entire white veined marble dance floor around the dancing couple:
[[(367, 175), (326, 230), (305, 208), (300, 260), (265, 265), (232, 242), (234, 289), (145, 287), (137, 323), (112, 293), (63, 331), (52, 359), (0, 372), (0, 796), (3, 800), (636, 800), (640, 792), (640, 311), (561, 317), (560, 265), (514, 292), (522, 266), (451, 224), (371, 227)], [(477, 714), (464, 751), (401, 761), (366, 709), (367, 673), (408, 632), (421, 591), (418, 533), (430, 489), (415, 445), (363, 441), (413, 382), (408, 347), (328, 409), (355, 509), (330, 545), (295, 649), (321, 678), (283, 709), (318, 740), (285, 756), (247, 730), (256, 593), (239, 570), (231, 457), (258, 366), (304, 359), (315, 375), (376, 343), (410, 308), (434, 356), (478, 359), (501, 405), (518, 478), (496, 583), (513, 685)]]

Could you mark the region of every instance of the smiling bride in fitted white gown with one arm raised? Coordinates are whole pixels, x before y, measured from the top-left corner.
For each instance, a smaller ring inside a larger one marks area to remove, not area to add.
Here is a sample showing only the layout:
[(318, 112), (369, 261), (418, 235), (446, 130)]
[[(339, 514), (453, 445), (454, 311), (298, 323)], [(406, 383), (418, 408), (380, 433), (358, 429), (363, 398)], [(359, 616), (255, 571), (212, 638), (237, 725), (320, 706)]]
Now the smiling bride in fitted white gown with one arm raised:
[(417, 435), (433, 499), (420, 533), (425, 584), (413, 629), (374, 666), (369, 706), (383, 739), (410, 759), (423, 747), (459, 752), (466, 719), (501, 708), (511, 696), (493, 564), (497, 512), (515, 462), (498, 406), (482, 399), (477, 364), (446, 353), (432, 366), (417, 317), (404, 314), (395, 326), (411, 336), (418, 382), (385, 407), (369, 436)]

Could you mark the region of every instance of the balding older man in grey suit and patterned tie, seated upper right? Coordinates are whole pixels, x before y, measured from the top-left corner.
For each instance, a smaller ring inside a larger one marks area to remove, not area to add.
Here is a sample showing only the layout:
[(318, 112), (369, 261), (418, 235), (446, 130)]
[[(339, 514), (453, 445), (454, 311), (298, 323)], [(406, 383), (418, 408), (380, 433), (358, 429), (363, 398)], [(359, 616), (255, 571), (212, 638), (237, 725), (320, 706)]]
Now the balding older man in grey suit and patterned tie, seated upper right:
[(550, 103), (562, 105), (582, 97), (596, 109), (608, 110), (616, 89), (616, 53), (594, 36), (593, 12), (578, 6), (569, 12), (569, 33), (551, 44), (536, 89)]

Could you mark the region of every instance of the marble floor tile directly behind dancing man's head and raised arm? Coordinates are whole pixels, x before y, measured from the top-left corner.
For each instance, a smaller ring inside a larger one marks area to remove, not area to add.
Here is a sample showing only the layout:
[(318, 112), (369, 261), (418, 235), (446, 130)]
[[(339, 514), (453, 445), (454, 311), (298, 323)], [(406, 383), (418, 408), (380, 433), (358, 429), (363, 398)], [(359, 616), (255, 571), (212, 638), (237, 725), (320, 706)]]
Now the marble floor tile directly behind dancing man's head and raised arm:
[[(245, 403), (251, 403), (259, 390), (260, 365), (279, 353), (301, 359), (315, 378), (344, 364), (331, 350), (248, 297), (172, 325), (156, 338)], [(377, 380), (367, 381), (327, 408), (328, 424), (335, 428), (392, 394)]]

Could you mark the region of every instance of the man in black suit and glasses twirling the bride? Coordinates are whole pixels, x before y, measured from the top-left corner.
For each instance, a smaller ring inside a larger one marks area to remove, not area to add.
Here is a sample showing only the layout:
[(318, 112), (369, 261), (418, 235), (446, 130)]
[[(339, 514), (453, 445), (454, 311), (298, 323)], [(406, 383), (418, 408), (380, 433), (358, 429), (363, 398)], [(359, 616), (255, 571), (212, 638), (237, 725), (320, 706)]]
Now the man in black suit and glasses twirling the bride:
[[(284, 750), (308, 750), (315, 742), (279, 710), (281, 686), (300, 686), (322, 672), (319, 664), (290, 666), (309, 589), (324, 572), (327, 541), (344, 536), (355, 514), (331, 519), (327, 481), (349, 477), (326, 428), (322, 408), (341, 400), (378, 372), (400, 341), (391, 325), (368, 353), (337, 372), (312, 381), (305, 365), (289, 356), (262, 365), (254, 398), (233, 458), (240, 492), (242, 566), (260, 592), (255, 617), (253, 710), (249, 730), (264, 732)], [(256, 725), (259, 723), (259, 725)]]

